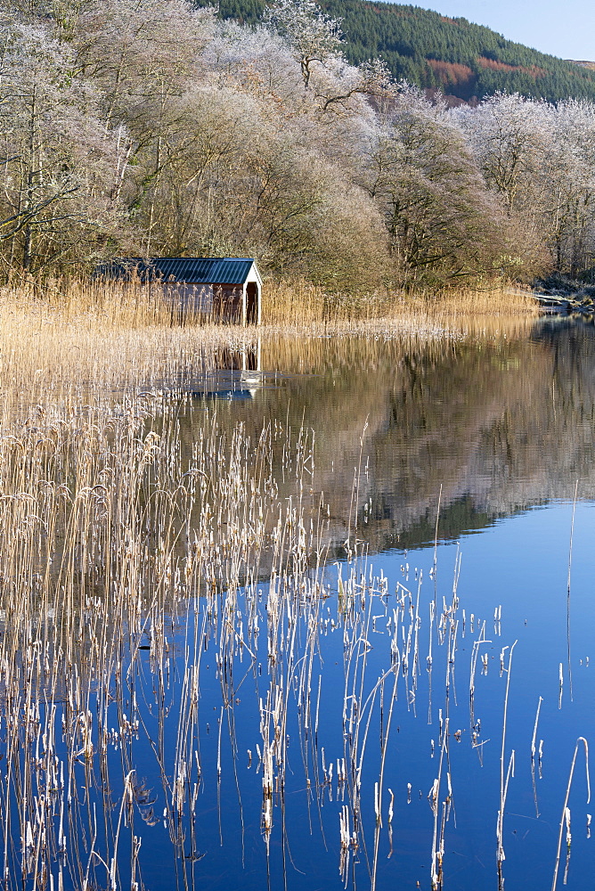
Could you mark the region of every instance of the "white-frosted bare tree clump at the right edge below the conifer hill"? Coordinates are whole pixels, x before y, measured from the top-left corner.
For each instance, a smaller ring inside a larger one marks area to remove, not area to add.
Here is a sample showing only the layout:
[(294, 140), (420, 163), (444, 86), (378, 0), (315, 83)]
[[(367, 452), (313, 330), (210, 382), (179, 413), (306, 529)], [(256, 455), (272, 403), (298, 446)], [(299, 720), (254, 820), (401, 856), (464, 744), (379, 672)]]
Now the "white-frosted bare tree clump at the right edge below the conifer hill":
[(542, 264), (563, 272), (589, 265), (595, 106), (497, 94), (477, 109), (452, 114), (486, 184), (501, 195), (510, 224), (522, 233), (525, 256), (541, 250)]

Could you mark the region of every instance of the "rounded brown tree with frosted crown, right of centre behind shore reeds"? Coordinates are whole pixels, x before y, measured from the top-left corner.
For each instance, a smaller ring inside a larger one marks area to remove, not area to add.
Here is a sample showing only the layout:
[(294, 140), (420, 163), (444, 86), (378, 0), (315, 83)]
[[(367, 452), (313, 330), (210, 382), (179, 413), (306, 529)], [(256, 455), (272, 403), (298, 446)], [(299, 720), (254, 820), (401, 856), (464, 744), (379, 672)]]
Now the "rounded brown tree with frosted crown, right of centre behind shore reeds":
[(508, 265), (501, 208), (444, 103), (403, 85), (371, 140), (366, 182), (407, 282), (493, 275)]

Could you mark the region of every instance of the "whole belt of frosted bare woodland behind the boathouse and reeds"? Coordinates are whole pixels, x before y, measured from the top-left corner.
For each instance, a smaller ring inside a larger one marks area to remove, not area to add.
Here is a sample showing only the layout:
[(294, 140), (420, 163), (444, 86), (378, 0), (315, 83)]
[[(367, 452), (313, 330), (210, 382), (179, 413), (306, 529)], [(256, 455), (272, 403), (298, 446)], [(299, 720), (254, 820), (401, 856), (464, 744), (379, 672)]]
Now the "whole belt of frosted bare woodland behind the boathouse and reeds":
[(595, 103), (450, 108), (343, 23), (184, 0), (3, 4), (0, 275), (249, 256), (335, 292), (588, 274)]

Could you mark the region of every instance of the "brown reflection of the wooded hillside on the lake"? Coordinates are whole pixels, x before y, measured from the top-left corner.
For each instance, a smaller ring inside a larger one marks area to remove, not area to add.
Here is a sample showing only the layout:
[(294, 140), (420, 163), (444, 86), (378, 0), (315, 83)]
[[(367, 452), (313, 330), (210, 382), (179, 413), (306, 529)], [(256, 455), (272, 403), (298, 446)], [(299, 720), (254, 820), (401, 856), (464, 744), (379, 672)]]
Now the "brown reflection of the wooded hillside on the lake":
[[(254, 442), (263, 423), (314, 429), (313, 495), (324, 492), (337, 544), (361, 450), (358, 536), (412, 545), (433, 538), (441, 486), (441, 533), (452, 536), (571, 497), (576, 479), (595, 496), (594, 356), (595, 326), (550, 319), (530, 337), (279, 339), (263, 344), (261, 364), (280, 372), (277, 385), (265, 379), (249, 403), (217, 413)], [(199, 422), (183, 419), (186, 446)]]

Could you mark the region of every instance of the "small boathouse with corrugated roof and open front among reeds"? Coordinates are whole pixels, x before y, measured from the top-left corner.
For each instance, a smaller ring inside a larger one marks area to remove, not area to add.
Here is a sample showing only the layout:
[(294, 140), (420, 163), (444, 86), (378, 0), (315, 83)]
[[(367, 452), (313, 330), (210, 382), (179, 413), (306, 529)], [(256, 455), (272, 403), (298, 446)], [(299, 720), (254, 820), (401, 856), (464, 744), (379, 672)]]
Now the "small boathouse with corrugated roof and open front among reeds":
[(182, 316), (204, 314), (216, 322), (257, 325), (262, 278), (249, 257), (127, 257), (98, 274), (159, 287)]

